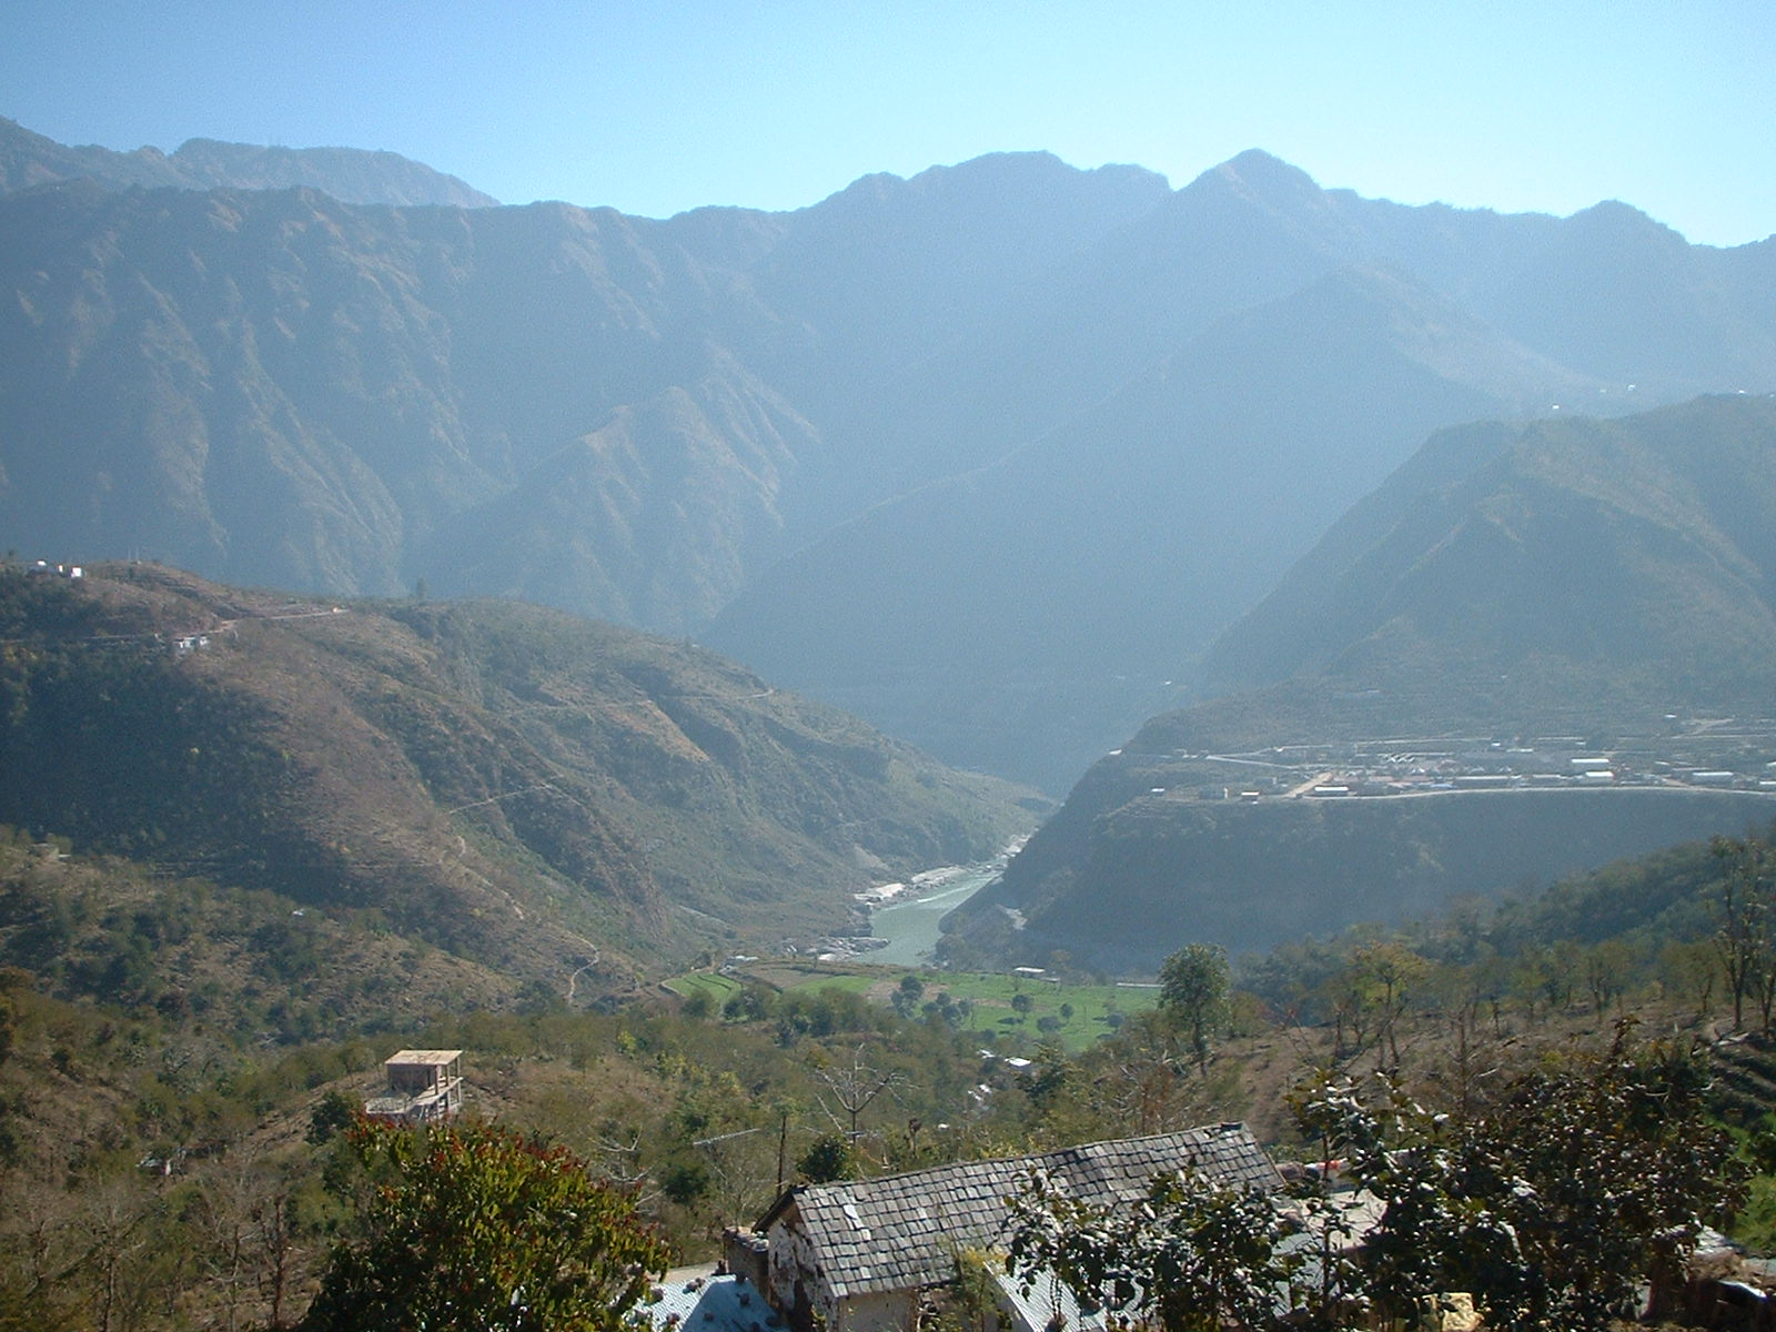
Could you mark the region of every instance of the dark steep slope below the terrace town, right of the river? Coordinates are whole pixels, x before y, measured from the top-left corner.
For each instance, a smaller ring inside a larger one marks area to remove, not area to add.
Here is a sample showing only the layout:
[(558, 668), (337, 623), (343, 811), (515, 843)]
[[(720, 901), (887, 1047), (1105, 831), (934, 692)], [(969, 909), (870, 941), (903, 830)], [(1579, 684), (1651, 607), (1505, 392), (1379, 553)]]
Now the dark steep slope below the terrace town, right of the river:
[(945, 922), (952, 955), (1043, 966), (1064, 950), (1153, 975), (1186, 943), (1263, 952), (1359, 922), (1399, 925), (1776, 817), (1776, 796), (1716, 790), (1241, 805), (1106, 787), (1108, 776), (1082, 781), (1005, 877)]

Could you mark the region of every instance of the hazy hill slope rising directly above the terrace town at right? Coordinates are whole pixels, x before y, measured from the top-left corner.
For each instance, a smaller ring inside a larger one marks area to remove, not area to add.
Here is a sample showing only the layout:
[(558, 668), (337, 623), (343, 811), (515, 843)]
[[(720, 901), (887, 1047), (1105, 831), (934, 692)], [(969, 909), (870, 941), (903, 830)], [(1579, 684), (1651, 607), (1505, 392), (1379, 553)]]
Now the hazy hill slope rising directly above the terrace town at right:
[(1213, 680), (1389, 687), (1563, 659), (1641, 694), (1776, 686), (1776, 400), (1430, 440), (1215, 645)]

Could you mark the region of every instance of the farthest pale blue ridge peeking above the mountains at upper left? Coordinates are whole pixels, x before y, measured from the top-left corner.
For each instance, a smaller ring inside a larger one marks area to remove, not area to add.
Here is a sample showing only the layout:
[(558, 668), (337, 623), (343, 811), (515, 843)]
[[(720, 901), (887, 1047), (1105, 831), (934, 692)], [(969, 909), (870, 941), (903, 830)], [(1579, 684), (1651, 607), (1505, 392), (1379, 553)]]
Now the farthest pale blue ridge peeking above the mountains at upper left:
[(321, 190), (350, 204), (490, 208), (499, 201), (398, 153), (359, 147), (259, 147), (190, 139), (170, 156), (158, 147), (114, 153), (67, 147), (0, 117), (0, 194), (89, 179), (107, 190)]

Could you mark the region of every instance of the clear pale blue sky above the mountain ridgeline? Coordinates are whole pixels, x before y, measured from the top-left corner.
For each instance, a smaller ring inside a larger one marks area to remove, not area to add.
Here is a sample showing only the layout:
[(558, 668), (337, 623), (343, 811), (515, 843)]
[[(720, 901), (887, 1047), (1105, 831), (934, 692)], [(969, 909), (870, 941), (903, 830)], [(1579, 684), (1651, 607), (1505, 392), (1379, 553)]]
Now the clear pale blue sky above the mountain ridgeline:
[(1183, 185), (1621, 199), (1776, 233), (1771, 0), (12, 0), (0, 115), (73, 144), (385, 147), (506, 202), (799, 208), (1002, 149)]

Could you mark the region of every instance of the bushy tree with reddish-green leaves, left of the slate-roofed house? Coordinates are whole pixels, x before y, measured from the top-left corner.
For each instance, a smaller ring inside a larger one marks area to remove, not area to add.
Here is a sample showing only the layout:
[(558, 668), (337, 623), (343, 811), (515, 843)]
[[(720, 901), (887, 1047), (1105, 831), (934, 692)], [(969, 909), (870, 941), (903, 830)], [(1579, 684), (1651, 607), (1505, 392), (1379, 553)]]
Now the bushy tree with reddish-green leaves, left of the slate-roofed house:
[(348, 1131), (373, 1188), (302, 1327), (614, 1332), (666, 1245), (586, 1162), (490, 1124)]

